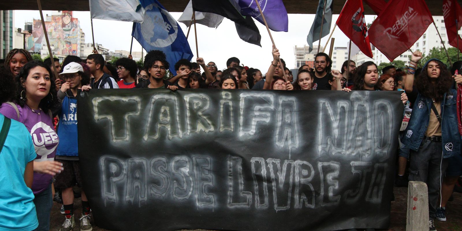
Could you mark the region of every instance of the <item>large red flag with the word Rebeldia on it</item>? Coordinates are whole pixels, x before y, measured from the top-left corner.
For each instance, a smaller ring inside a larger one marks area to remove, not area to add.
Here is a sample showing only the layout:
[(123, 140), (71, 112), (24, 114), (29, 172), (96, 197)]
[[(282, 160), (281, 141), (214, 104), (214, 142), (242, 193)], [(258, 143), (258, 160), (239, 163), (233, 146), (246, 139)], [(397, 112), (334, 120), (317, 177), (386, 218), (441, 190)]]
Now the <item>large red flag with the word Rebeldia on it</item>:
[(371, 43), (390, 61), (409, 49), (433, 22), (425, 0), (390, 0), (369, 28)]

